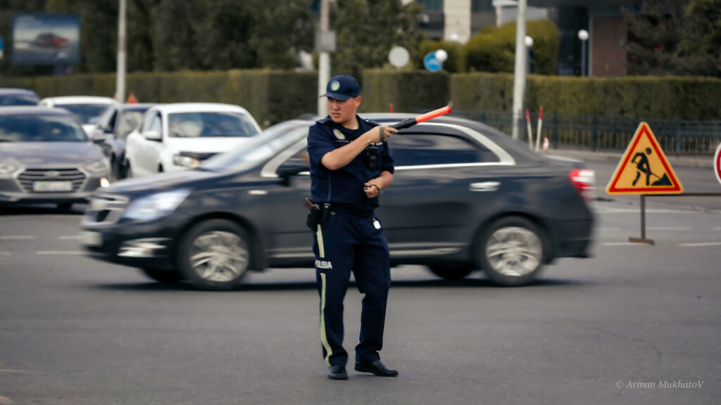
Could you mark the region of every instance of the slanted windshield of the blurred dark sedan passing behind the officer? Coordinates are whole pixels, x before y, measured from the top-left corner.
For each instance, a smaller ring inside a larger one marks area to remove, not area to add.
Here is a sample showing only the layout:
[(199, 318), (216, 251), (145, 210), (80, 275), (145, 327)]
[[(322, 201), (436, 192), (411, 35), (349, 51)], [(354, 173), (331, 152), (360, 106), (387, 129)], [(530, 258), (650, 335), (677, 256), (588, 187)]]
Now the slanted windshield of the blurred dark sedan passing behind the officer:
[(308, 125), (301, 121), (290, 121), (273, 125), (262, 135), (234, 151), (221, 153), (206, 160), (200, 167), (220, 171), (243, 171), (271, 159), (293, 143), (308, 135)]

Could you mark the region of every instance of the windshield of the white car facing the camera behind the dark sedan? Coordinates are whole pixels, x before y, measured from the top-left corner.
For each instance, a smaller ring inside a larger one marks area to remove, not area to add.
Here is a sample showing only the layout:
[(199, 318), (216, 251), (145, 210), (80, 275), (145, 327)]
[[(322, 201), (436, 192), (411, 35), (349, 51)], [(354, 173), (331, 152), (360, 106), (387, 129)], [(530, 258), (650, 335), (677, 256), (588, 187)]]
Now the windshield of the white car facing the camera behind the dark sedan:
[(247, 137), (258, 130), (239, 112), (177, 112), (168, 115), (171, 138)]

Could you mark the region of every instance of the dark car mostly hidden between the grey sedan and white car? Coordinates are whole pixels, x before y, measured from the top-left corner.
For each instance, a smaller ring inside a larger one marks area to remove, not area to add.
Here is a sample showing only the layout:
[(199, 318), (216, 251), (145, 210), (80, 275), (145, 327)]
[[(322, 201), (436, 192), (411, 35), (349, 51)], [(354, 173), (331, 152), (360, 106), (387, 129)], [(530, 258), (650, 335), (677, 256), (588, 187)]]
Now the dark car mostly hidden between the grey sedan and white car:
[(125, 164), (125, 139), (143, 123), (143, 115), (154, 105), (111, 105), (98, 119), (93, 134), (105, 137), (105, 142), (101, 146), (107, 159), (110, 159), (113, 179), (125, 179), (128, 172), (128, 166)]

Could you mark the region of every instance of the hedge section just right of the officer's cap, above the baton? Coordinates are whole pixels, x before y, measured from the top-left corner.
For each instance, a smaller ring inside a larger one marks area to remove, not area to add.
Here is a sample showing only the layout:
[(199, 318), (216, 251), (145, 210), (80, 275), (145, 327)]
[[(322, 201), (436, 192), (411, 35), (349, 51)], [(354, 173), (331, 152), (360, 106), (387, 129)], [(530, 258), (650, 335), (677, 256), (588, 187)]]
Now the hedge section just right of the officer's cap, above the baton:
[(361, 111), (416, 113), (448, 104), (448, 74), (429, 71), (363, 71)]

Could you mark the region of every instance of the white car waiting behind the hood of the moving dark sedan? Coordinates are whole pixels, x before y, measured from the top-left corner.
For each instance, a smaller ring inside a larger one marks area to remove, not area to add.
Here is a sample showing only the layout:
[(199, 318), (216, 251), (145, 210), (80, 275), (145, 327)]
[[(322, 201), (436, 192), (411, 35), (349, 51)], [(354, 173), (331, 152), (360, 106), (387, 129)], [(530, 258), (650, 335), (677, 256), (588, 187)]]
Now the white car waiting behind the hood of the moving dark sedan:
[(125, 141), (125, 168), (128, 177), (194, 169), (200, 161), (238, 148), (261, 132), (252, 115), (237, 105), (156, 105)]

